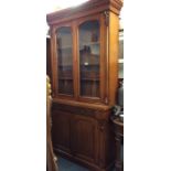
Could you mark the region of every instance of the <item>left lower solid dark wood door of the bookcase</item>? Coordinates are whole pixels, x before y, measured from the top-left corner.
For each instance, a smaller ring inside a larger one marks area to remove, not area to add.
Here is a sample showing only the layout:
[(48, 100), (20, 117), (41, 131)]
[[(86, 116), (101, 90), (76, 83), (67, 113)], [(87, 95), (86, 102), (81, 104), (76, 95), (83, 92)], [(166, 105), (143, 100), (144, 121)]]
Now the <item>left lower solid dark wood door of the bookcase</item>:
[(52, 113), (52, 141), (56, 149), (71, 153), (70, 146), (70, 114), (64, 111)]

